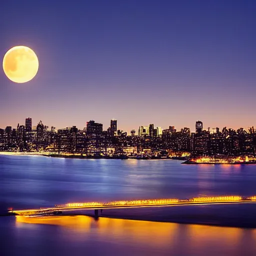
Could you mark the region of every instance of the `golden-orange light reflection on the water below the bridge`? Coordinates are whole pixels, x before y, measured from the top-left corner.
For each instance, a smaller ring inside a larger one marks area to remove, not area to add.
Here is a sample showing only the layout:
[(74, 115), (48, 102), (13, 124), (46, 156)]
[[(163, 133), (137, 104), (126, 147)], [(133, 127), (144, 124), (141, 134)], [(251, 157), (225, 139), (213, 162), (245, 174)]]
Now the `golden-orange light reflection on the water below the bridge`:
[[(58, 235), (58, 239), (68, 243), (75, 242), (78, 252), (88, 243), (95, 246), (106, 242), (108, 246), (104, 249), (94, 247), (96, 255), (99, 252), (108, 255), (117, 245), (123, 249), (124, 255), (136, 255), (141, 251), (147, 255), (156, 252), (162, 255), (240, 255), (242, 251), (244, 255), (253, 255), (256, 250), (256, 229), (105, 217), (94, 220), (83, 215), (16, 216), (15, 226), (22, 232), (35, 234), (41, 233), (42, 226), (44, 231), (54, 226), (47, 235)], [(67, 255), (61, 248), (59, 252)]]

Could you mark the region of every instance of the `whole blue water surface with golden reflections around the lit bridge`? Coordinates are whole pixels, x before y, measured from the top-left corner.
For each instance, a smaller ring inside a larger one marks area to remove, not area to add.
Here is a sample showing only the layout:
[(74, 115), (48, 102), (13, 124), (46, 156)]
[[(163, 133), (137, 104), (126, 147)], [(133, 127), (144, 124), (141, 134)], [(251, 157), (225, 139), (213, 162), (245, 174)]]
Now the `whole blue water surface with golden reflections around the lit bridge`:
[[(0, 155), (2, 214), (72, 201), (218, 194), (256, 194), (256, 166)], [(256, 204), (111, 209), (98, 220), (91, 213), (1, 216), (0, 255), (256, 255)]]

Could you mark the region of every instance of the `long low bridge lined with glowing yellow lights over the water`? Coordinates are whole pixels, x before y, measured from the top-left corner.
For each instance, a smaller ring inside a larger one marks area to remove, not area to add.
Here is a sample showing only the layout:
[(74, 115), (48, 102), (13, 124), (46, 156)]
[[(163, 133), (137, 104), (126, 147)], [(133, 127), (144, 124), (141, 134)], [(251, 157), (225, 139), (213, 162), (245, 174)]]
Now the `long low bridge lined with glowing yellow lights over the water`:
[(178, 205), (202, 205), (202, 204), (230, 204), (230, 203), (255, 203), (256, 195), (241, 197), (238, 195), (200, 196), (190, 199), (163, 198), (163, 199), (141, 199), (141, 200), (116, 200), (108, 202), (71, 202), (55, 205), (54, 207), (39, 209), (10, 209), (9, 213), (23, 216), (45, 216), (70, 210), (94, 210), (94, 216), (98, 217), (98, 210), (110, 208), (137, 208), (137, 207), (160, 207)]

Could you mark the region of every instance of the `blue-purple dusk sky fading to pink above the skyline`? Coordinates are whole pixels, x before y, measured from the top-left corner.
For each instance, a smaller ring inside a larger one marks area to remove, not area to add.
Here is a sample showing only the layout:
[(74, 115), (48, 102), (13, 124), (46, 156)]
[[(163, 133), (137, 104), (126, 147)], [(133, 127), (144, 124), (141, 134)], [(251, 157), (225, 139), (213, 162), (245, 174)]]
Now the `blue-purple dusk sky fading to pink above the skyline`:
[(39, 70), (18, 84), (0, 69), (0, 127), (256, 126), (255, 13), (255, 0), (2, 1), (1, 60), (26, 45)]

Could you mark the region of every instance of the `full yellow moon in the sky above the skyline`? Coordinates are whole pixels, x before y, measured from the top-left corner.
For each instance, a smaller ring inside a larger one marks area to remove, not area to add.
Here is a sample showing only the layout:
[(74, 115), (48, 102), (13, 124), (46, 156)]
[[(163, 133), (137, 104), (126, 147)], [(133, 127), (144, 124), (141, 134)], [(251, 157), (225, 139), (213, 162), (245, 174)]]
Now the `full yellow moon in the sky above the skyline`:
[(13, 82), (30, 81), (37, 73), (38, 58), (34, 51), (26, 46), (14, 46), (4, 55), (2, 68), (5, 75)]

